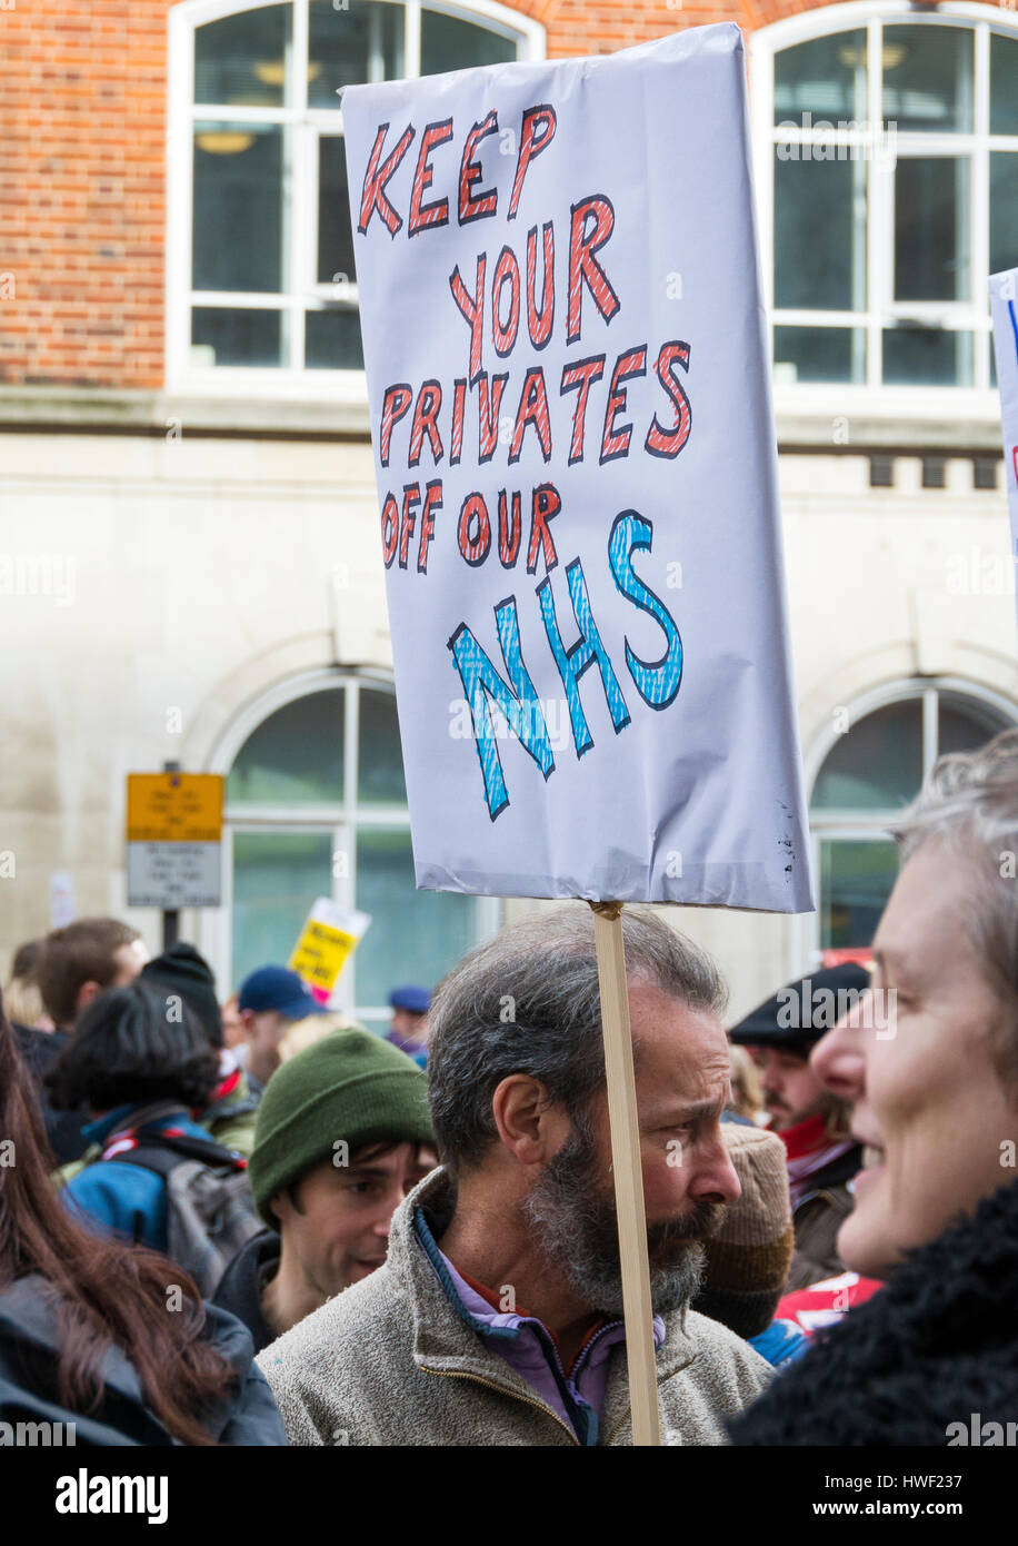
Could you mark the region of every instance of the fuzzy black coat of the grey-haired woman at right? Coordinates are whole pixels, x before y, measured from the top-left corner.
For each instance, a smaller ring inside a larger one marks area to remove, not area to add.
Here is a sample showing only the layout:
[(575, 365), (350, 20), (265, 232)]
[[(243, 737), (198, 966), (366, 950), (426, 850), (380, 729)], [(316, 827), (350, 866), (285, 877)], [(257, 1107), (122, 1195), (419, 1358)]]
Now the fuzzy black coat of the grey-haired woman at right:
[(731, 1436), (945, 1446), (948, 1425), (969, 1425), (972, 1413), (1018, 1418), (1018, 1181), (911, 1251), (731, 1424)]

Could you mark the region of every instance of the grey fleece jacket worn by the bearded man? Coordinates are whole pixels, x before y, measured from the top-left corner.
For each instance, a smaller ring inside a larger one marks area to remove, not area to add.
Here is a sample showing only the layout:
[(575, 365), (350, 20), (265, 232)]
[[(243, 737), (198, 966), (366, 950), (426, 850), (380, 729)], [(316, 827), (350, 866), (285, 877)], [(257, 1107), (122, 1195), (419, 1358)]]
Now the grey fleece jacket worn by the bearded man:
[[(392, 1215), (383, 1268), (258, 1356), (290, 1444), (578, 1444), (573, 1430), (490, 1351), (443, 1289), (414, 1212), (448, 1209), (433, 1170)], [(664, 1317), (657, 1351), (664, 1444), (724, 1444), (724, 1421), (772, 1370), (734, 1331), (691, 1309)], [(610, 1353), (598, 1444), (632, 1444), (626, 1345)]]

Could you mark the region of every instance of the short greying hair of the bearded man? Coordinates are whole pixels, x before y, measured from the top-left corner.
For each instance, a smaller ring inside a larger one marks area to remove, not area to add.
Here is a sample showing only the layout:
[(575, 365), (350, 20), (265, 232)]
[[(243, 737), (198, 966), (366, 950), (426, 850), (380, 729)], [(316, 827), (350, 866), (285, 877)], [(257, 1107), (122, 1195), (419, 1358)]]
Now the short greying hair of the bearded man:
[[(721, 1014), (714, 962), (650, 908), (623, 912), (626, 976)], [(497, 1138), (491, 1098), (513, 1073), (539, 1081), (573, 1124), (604, 1085), (593, 914), (585, 903), (527, 918), (471, 951), (428, 1014), (431, 1119), (453, 1175)]]

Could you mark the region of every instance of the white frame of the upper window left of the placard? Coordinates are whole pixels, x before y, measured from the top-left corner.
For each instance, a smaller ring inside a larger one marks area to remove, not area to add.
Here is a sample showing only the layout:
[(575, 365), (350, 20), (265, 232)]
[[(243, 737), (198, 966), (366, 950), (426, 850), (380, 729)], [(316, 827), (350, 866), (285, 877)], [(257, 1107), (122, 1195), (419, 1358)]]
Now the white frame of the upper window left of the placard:
[[(351, 281), (318, 284), (315, 277), (317, 232), (315, 198), (318, 189), (317, 145), (323, 131), (343, 133), (340, 108), (309, 108), (307, 80), (297, 70), (297, 100), (275, 108), (219, 107), (195, 102), (195, 31), (209, 22), (219, 22), (244, 11), (260, 11), (278, 0), (184, 0), (170, 11), (168, 28), (168, 133), (167, 133), (167, 388), (179, 394), (229, 397), (292, 397), (323, 399), (360, 405), (368, 400), (365, 373), (358, 369), (314, 369), (294, 362), (304, 359), (306, 312), (323, 309), (326, 298), (355, 306), (357, 286)], [(292, 6), (292, 51), (307, 54), (309, 0), (284, 0)], [(358, 3), (358, 0), (352, 0)], [(385, 5), (386, 0), (375, 0)], [(406, 79), (420, 73), (420, 12), (443, 11), (463, 22), (473, 22), (516, 39), (517, 59), (545, 57), (545, 31), (541, 23), (497, 0), (400, 0), (406, 11), (405, 59)], [(292, 133), (294, 187), (284, 204), (292, 221), (284, 258), (294, 258), (295, 284), (286, 295), (260, 295), (252, 291), (192, 291), (192, 181), (193, 124), (278, 124)], [(312, 229), (314, 227), (314, 229)], [(286, 311), (290, 317), (290, 363), (280, 366), (195, 366), (190, 362), (190, 312), (195, 305), (236, 306), (243, 309)]]

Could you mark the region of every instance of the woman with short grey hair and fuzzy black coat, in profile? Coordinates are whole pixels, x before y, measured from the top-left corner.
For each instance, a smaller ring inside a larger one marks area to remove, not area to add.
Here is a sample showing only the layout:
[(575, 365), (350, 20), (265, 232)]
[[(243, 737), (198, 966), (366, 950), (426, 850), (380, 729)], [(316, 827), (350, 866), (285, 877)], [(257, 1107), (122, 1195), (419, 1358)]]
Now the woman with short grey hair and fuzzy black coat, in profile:
[(894, 836), (873, 991), (811, 1057), (865, 1146), (839, 1252), (887, 1282), (737, 1444), (1018, 1432), (1018, 731), (942, 758)]

